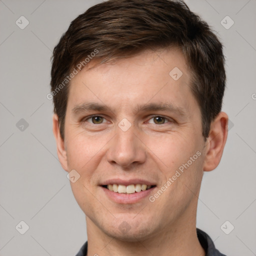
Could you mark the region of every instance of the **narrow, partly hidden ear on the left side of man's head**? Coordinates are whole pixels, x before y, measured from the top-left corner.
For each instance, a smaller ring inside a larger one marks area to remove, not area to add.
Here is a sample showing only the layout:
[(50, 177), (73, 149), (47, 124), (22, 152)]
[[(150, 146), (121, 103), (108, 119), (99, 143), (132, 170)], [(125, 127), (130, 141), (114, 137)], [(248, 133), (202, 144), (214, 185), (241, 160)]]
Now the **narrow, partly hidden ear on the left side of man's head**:
[(56, 144), (57, 144), (57, 155), (58, 155), (59, 162), (60, 162), (62, 168), (65, 171), (68, 171), (64, 139), (62, 139), (60, 136), (59, 125), (58, 125), (58, 116), (56, 114), (54, 114), (52, 117), (52, 131), (53, 131), (53, 134), (54, 134), (54, 137), (56, 140)]

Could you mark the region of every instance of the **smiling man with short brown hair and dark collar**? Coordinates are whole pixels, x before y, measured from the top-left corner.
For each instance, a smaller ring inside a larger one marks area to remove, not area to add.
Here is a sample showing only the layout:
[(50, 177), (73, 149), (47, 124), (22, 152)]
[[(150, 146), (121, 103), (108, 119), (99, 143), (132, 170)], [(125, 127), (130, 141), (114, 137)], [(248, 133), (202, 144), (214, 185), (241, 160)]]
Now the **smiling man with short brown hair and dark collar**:
[(53, 133), (84, 255), (223, 255), (196, 229), (227, 137), (222, 45), (182, 1), (109, 0), (53, 51)]

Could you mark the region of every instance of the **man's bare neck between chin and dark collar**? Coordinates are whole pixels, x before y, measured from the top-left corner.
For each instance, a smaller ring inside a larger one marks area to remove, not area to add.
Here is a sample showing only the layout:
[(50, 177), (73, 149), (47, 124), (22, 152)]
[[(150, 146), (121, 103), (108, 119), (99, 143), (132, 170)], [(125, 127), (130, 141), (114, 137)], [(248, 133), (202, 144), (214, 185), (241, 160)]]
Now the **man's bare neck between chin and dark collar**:
[(165, 230), (160, 230), (149, 238), (140, 239), (135, 242), (123, 241), (117, 237), (107, 235), (86, 216), (88, 236), (87, 255), (205, 256), (205, 252), (196, 234), (196, 210), (193, 213), (189, 216), (181, 217), (171, 227), (167, 226)]

